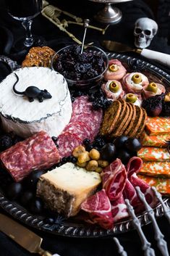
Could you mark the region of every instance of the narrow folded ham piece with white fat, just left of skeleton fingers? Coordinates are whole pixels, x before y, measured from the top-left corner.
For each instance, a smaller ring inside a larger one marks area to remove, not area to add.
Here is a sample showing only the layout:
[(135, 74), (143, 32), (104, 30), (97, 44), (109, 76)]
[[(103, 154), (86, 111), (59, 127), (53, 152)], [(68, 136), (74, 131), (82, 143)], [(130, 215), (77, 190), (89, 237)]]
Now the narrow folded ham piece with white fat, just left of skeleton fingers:
[(111, 202), (111, 213), (114, 218), (114, 222), (122, 220), (123, 218), (129, 217), (129, 213), (127, 211), (127, 205), (124, 202), (124, 196), (122, 194), (121, 197)]

